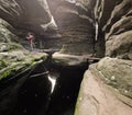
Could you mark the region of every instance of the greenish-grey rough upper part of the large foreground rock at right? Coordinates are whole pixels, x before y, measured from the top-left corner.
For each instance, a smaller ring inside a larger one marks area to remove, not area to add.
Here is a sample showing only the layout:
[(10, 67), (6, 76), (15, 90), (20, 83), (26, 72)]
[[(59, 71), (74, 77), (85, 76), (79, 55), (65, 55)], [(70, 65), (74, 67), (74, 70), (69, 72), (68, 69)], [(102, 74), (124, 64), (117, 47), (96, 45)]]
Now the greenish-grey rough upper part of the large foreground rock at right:
[(103, 81), (116, 88), (121, 94), (132, 97), (132, 61), (103, 58), (96, 69), (102, 76)]

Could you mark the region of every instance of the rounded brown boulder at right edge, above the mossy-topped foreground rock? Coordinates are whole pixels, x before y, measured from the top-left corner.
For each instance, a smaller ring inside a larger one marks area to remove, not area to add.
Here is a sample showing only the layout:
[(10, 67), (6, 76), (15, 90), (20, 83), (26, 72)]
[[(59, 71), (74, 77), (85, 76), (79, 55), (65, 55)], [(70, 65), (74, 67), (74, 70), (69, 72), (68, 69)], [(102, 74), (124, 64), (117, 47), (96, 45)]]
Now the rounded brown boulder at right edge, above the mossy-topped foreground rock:
[(106, 56), (132, 59), (132, 31), (111, 35), (106, 42)]

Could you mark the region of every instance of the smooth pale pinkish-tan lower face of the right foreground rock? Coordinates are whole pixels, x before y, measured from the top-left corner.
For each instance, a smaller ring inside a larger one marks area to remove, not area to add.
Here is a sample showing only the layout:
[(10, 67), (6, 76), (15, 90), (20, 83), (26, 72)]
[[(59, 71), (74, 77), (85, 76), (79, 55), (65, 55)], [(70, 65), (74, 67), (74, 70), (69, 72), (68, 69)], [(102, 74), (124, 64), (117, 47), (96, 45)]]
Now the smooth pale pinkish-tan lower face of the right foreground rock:
[(132, 115), (132, 101), (106, 85), (99, 76), (86, 71), (75, 115)]

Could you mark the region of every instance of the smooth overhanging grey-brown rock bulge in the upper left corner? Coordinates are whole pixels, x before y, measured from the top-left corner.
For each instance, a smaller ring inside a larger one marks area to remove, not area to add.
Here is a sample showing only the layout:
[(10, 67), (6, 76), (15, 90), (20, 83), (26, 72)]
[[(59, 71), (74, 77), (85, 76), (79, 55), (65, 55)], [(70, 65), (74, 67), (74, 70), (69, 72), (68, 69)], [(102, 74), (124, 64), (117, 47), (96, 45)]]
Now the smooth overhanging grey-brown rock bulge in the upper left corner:
[(52, 14), (46, 0), (1, 0), (0, 18), (25, 32), (43, 34), (48, 31), (48, 26), (52, 26), (51, 30), (56, 27), (52, 23)]

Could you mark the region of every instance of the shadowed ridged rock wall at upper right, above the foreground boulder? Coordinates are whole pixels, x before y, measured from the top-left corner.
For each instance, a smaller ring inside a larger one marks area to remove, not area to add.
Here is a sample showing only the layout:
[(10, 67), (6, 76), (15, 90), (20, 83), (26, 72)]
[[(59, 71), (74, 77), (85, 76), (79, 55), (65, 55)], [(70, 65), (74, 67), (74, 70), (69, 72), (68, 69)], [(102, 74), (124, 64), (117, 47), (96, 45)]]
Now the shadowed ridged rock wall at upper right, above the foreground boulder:
[(132, 1), (84, 0), (81, 4), (87, 9), (92, 5), (90, 18), (98, 23), (97, 54), (105, 50), (100, 46), (106, 42), (106, 56), (131, 59)]

